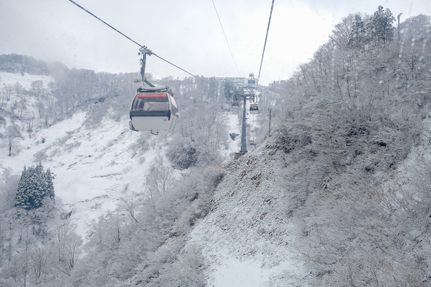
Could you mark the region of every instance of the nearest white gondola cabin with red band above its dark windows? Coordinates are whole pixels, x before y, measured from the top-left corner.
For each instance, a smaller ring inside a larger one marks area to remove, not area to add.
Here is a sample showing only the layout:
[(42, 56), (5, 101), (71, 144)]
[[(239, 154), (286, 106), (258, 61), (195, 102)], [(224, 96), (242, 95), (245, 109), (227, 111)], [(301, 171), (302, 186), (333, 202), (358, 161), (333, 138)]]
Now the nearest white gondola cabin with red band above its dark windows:
[(174, 131), (178, 108), (168, 87), (139, 88), (130, 110), (133, 131)]

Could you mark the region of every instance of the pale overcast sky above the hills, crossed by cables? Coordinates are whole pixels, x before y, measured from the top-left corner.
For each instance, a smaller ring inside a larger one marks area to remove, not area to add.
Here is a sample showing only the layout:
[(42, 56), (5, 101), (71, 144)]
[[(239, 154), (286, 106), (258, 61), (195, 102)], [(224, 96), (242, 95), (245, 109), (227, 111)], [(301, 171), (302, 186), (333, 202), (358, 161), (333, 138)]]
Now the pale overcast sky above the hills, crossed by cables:
[[(272, 0), (75, 0), (191, 74), (259, 73)], [(217, 8), (223, 34), (215, 8)], [(286, 80), (350, 13), (381, 5), (401, 21), (431, 15), (430, 0), (275, 0), (260, 84)], [(138, 72), (139, 46), (68, 0), (0, 0), (0, 54), (25, 54), (96, 72)], [(233, 56), (232, 56), (233, 55)], [(189, 76), (156, 56), (155, 78)]]

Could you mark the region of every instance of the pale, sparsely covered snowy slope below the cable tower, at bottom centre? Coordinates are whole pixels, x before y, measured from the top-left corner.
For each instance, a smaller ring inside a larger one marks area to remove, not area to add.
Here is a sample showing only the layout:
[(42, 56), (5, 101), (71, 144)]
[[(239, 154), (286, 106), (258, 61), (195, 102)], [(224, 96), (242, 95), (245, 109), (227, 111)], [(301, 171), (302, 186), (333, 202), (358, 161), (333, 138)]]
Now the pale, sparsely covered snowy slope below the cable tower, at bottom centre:
[(307, 274), (289, 246), (296, 228), (284, 212), (280, 164), (261, 146), (227, 165), (215, 209), (189, 238), (209, 265), (208, 286), (304, 286)]

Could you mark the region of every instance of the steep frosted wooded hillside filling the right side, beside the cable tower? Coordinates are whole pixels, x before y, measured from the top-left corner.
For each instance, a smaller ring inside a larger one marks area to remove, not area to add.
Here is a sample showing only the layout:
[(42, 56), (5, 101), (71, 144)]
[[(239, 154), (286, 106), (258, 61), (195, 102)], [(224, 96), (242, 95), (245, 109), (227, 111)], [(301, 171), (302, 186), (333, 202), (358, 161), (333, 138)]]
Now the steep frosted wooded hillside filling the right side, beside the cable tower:
[(431, 23), (394, 20), (346, 17), (272, 85), (284, 123), (192, 233), (209, 286), (430, 286)]

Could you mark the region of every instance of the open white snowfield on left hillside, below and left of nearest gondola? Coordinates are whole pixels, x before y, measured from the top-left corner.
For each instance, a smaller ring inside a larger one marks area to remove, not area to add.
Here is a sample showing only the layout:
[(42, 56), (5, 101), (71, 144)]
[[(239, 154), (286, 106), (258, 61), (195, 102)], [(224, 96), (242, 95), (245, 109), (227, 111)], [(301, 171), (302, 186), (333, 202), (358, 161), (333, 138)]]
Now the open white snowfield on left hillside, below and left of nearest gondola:
[(72, 222), (83, 239), (92, 220), (114, 211), (119, 198), (144, 193), (149, 168), (163, 155), (162, 145), (136, 151), (136, 143), (158, 139), (130, 131), (126, 116), (120, 123), (104, 119), (96, 129), (86, 127), (85, 120), (85, 113), (78, 113), (23, 138), (14, 156), (7, 156), (6, 149), (0, 151), (0, 167), (12, 169), (13, 174), (42, 158), (43, 167), (53, 173), (56, 198), (68, 211), (73, 209)]

